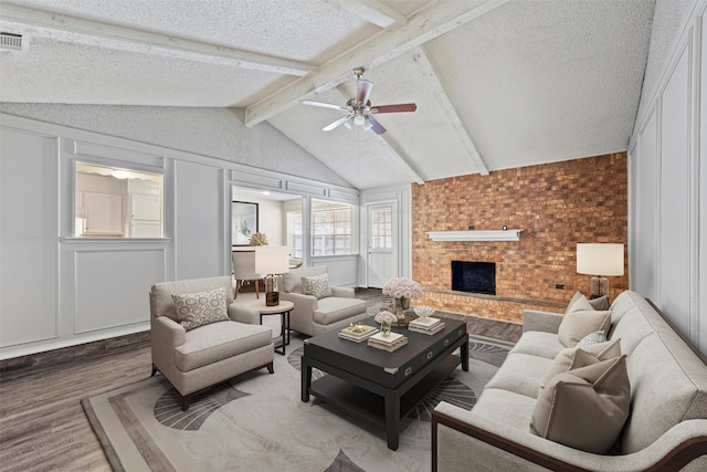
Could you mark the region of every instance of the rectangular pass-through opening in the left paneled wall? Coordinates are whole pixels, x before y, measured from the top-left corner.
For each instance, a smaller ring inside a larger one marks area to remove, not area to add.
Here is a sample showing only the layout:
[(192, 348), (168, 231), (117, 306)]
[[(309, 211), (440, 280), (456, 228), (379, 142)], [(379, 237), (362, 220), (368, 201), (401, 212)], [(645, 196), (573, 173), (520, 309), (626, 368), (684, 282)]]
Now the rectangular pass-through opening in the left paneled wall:
[(162, 175), (76, 162), (80, 238), (162, 238)]

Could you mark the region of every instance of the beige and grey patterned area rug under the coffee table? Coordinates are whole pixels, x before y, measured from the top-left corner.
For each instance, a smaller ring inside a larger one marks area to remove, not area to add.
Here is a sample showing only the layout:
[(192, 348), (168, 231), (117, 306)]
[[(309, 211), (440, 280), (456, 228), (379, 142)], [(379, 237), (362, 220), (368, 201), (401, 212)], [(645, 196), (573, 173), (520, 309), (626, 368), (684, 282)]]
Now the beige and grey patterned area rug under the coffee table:
[(402, 421), (398, 451), (382, 429), (300, 401), (296, 337), (275, 355), (275, 374), (236, 377), (186, 412), (159, 375), (82, 405), (116, 471), (429, 471), (432, 410), (441, 400), (472, 409), (511, 346), (469, 336), (469, 371), (455, 369)]

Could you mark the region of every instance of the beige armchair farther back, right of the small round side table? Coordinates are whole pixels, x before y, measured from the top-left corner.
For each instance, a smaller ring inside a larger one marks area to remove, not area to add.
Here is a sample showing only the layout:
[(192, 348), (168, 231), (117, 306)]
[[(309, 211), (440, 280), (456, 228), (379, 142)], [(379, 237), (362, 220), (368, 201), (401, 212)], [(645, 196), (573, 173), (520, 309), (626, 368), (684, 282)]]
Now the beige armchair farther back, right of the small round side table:
[(289, 327), (309, 336), (340, 329), (368, 316), (366, 302), (354, 297), (354, 289), (330, 286), (331, 295), (323, 298), (305, 295), (302, 277), (321, 274), (328, 274), (326, 265), (293, 269), (283, 274), (279, 298), (295, 304), (289, 314)]

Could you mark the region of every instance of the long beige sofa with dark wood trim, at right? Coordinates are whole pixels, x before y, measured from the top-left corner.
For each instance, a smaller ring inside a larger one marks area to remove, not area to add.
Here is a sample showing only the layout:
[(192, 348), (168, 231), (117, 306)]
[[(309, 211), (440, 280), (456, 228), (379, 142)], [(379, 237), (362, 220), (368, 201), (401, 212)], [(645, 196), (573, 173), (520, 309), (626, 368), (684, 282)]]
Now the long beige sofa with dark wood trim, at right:
[(467, 411), (443, 401), (435, 408), (432, 469), (707, 470), (704, 356), (635, 292), (622, 293), (610, 310), (608, 337), (620, 339), (631, 387), (629, 417), (612, 452), (585, 452), (530, 432), (540, 379), (566, 346), (558, 336), (562, 315), (526, 311), (523, 336), (476, 406)]

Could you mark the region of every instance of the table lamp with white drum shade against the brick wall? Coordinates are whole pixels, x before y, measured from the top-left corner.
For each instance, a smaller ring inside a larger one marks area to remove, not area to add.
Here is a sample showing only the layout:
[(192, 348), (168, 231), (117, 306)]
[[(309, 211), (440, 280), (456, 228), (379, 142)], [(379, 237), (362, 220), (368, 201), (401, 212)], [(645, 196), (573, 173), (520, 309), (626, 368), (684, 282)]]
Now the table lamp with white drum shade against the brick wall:
[(623, 244), (578, 243), (577, 273), (593, 275), (590, 298), (609, 295), (609, 280), (602, 275), (623, 275)]

